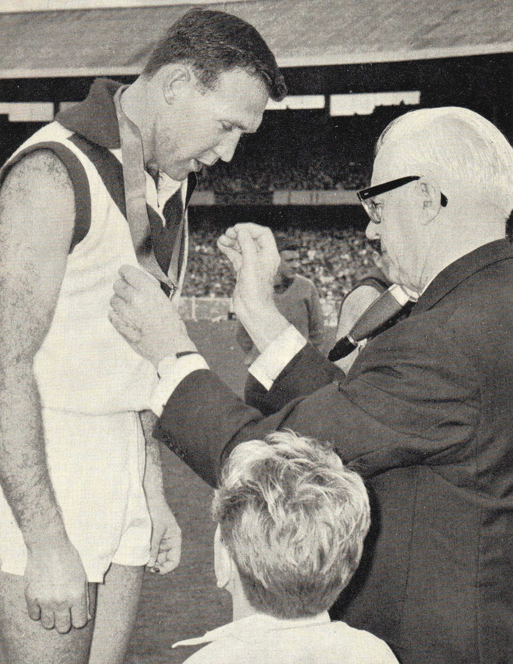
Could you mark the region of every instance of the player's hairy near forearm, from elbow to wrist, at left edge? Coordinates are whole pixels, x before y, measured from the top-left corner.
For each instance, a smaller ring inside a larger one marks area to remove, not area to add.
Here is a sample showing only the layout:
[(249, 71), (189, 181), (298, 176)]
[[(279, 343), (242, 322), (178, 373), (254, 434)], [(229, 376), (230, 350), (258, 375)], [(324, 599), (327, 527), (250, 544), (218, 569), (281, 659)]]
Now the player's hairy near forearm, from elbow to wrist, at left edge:
[(28, 548), (65, 538), (48, 475), (39, 394), (29, 363), (1, 369), (0, 483)]

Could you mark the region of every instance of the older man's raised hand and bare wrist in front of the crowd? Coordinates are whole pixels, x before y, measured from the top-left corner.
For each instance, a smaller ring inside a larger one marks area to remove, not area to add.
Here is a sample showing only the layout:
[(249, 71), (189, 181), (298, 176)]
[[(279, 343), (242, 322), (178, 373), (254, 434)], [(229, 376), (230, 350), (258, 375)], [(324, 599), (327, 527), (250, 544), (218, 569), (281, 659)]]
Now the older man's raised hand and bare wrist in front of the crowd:
[(236, 224), (217, 244), (237, 273), (235, 313), (262, 352), (289, 325), (274, 303), (274, 278), (280, 261), (274, 236), (265, 226)]

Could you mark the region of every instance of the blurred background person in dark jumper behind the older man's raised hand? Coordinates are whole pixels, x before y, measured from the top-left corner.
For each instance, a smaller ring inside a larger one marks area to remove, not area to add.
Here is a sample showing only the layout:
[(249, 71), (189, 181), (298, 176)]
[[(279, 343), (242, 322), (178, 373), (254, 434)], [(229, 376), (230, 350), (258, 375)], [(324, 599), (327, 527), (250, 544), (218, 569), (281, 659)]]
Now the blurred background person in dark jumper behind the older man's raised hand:
[[(299, 268), (299, 246), (294, 242), (279, 242), (281, 263), (275, 277), (274, 299), (280, 313), (321, 349), (323, 345), (324, 314), (315, 284), (297, 274)], [(245, 363), (249, 367), (259, 353), (244, 325), (238, 323), (236, 331), (238, 345), (246, 353)]]

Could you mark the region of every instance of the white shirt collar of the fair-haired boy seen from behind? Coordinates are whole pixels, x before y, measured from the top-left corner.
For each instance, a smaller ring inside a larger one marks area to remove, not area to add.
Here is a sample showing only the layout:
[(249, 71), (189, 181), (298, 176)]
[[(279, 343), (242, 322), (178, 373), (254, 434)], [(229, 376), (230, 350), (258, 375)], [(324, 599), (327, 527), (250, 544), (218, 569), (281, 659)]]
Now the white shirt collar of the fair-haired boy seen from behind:
[(274, 618), (274, 616), (268, 616), (267, 614), (256, 613), (217, 627), (217, 629), (212, 629), (212, 631), (208, 631), (204, 636), (197, 637), (196, 639), (186, 639), (186, 641), (173, 643), (172, 647), (175, 648), (177, 645), (201, 645), (202, 643), (211, 643), (225, 637), (240, 637), (243, 634), (249, 636), (252, 632), (256, 631), (297, 629), (298, 627), (310, 627), (311, 625), (321, 625), (330, 622), (331, 620), (327, 611), (313, 616), (313, 618), (299, 618), (298, 620), (286, 620), (285, 618)]

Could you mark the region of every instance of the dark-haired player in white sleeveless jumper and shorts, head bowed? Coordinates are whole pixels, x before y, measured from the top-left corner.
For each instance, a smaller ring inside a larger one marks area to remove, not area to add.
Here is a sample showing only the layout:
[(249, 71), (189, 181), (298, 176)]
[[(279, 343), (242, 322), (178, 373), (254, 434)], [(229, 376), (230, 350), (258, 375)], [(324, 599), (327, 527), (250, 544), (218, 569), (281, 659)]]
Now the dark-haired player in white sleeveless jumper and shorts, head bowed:
[[(0, 635), (9, 664), (121, 663), (152, 519), (157, 565), (177, 563), (179, 529), (151, 442), (145, 462), (138, 415), (157, 374), (108, 320), (119, 266), (145, 252), (125, 218), (118, 88), (96, 82), (1, 172)], [(140, 132), (163, 272), (193, 171), (230, 161), (269, 94), (283, 98), (285, 86), (257, 31), (205, 11), (179, 19), (121, 92), (121, 113)], [(182, 266), (185, 256), (182, 246)]]

